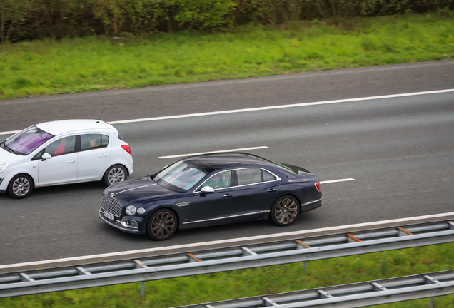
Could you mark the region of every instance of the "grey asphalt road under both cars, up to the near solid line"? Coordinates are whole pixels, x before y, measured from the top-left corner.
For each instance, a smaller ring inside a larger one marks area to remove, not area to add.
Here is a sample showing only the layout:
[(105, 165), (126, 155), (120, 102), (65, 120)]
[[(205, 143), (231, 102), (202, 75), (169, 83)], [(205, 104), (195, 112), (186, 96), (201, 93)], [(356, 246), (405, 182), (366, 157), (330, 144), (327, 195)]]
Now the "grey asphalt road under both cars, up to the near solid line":
[[(454, 88), (454, 61), (0, 101), (0, 131), (45, 120), (126, 120)], [(133, 178), (178, 155), (267, 146), (251, 153), (303, 165), (323, 206), (290, 227), (267, 221), (177, 232), (153, 242), (98, 218), (100, 183), (0, 195), (0, 265), (452, 212), (454, 93), (115, 125), (131, 145)], [(7, 135), (0, 135), (6, 138)]]

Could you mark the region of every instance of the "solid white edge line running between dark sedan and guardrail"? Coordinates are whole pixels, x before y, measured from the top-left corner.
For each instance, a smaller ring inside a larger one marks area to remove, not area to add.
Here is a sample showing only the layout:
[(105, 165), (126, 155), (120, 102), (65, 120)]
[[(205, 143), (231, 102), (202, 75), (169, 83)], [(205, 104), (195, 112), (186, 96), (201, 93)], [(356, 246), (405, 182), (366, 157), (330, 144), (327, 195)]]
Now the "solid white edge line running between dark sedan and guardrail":
[(299, 231), (283, 232), (283, 233), (276, 233), (276, 234), (270, 234), (270, 235), (256, 235), (256, 236), (252, 236), (252, 237), (240, 237), (240, 238), (235, 238), (235, 239), (216, 240), (216, 241), (211, 241), (211, 242), (198, 242), (198, 243), (174, 245), (174, 246), (167, 246), (167, 247), (154, 247), (154, 248), (147, 248), (147, 249), (142, 249), (142, 250), (108, 252), (108, 253), (99, 254), (99, 255), (86, 255), (86, 256), (80, 256), (80, 257), (66, 257), (66, 258), (53, 259), (53, 260), (22, 262), (22, 263), (15, 263), (15, 264), (9, 264), (9, 265), (0, 265), (0, 269), (8, 269), (8, 268), (13, 268), (13, 267), (26, 267), (26, 266), (34, 266), (34, 265), (45, 265), (45, 264), (51, 264), (51, 263), (57, 263), (57, 262), (90, 260), (90, 259), (98, 259), (98, 258), (104, 258), (104, 257), (126, 256), (126, 255), (134, 255), (134, 254), (155, 252), (155, 251), (164, 252), (166, 250), (176, 250), (176, 249), (181, 249), (181, 248), (201, 247), (201, 246), (218, 245), (218, 244), (225, 244), (225, 243), (237, 243), (237, 242), (248, 241), (248, 240), (263, 240), (263, 239), (269, 239), (269, 238), (273, 238), (273, 237), (285, 237), (285, 236), (289, 236), (289, 235), (302, 235), (302, 234), (306, 235), (308, 233), (351, 229), (354, 227), (372, 227), (372, 226), (380, 226), (380, 225), (393, 224), (393, 223), (411, 222), (413, 220), (443, 218), (443, 217), (448, 217), (448, 216), (454, 216), (454, 212), (445, 212), (445, 213), (433, 214), (433, 215), (398, 218), (398, 219), (393, 219), (393, 220), (380, 220), (380, 221), (376, 221), (376, 222), (363, 222), (363, 223), (358, 223), (358, 224), (353, 224), (353, 225), (340, 225), (340, 226), (336, 226), (336, 227), (323, 227), (323, 228), (312, 229), (312, 230), (299, 230)]

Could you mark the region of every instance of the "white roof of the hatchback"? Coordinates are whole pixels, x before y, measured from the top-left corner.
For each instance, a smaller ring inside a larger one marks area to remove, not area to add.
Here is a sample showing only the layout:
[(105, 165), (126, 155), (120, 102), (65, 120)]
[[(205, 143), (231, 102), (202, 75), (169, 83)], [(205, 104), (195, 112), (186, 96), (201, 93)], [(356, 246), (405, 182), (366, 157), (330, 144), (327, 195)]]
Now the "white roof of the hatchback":
[(113, 130), (117, 133), (116, 128), (102, 120), (56, 120), (36, 124), (38, 128), (52, 135), (61, 135), (80, 130)]

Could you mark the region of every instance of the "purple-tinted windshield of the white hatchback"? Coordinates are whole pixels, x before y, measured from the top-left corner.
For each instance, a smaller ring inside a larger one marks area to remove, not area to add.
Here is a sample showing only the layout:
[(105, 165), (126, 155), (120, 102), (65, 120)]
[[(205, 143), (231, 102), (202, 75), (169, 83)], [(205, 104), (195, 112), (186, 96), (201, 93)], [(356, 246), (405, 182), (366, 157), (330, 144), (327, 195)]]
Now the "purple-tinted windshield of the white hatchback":
[(46, 133), (36, 126), (31, 126), (31, 128), (26, 128), (4, 140), (0, 143), (0, 147), (17, 155), (29, 155), (39, 145), (42, 145), (53, 137), (54, 135)]

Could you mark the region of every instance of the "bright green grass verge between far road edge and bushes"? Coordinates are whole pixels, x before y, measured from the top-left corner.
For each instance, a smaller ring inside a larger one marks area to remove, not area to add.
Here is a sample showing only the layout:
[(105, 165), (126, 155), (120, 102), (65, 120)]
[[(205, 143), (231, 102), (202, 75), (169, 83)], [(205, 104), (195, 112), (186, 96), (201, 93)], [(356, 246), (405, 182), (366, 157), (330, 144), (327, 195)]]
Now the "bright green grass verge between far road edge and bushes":
[(0, 46), (0, 98), (454, 58), (454, 12)]

